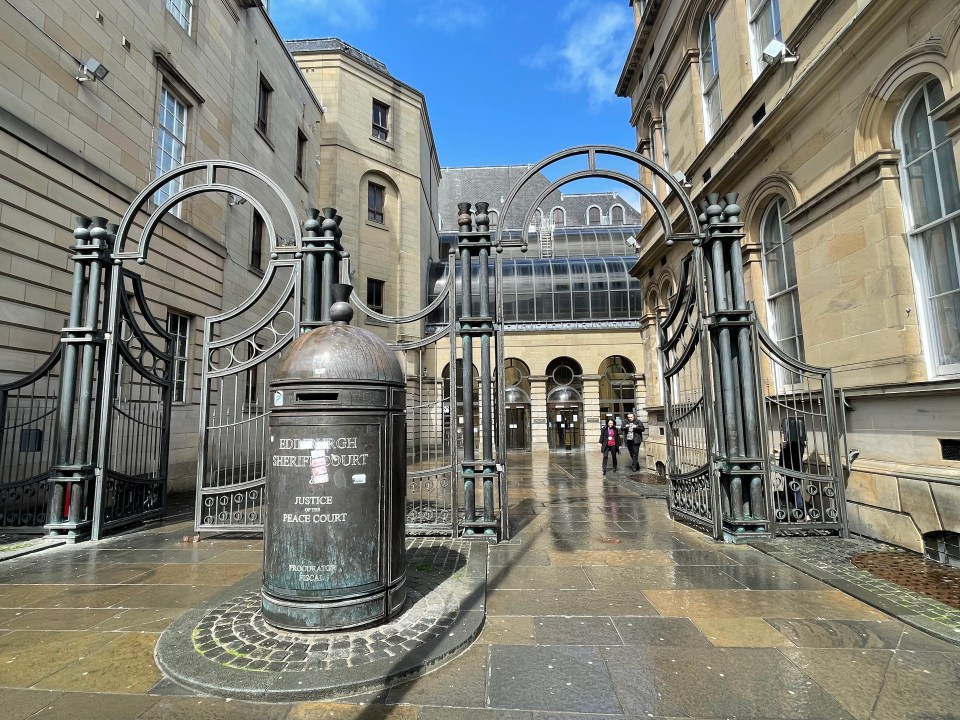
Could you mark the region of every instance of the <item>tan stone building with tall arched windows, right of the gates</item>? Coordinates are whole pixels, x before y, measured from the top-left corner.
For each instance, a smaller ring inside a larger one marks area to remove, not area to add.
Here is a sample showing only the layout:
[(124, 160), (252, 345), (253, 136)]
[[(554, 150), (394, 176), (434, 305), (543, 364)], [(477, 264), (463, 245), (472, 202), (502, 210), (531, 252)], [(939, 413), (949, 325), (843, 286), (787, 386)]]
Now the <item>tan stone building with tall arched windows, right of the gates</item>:
[[(638, 151), (682, 177), (695, 202), (740, 194), (762, 322), (789, 354), (833, 368), (846, 396), (848, 444), (859, 451), (850, 529), (956, 561), (960, 8), (631, 5), (616, 92), (631, 100)], [(679, 216), (676, 198), (657, 191)], [(688, 248), (667, 248), (656, 223), (638, 240), (652, 463), (664, 457), (652, 320)]]

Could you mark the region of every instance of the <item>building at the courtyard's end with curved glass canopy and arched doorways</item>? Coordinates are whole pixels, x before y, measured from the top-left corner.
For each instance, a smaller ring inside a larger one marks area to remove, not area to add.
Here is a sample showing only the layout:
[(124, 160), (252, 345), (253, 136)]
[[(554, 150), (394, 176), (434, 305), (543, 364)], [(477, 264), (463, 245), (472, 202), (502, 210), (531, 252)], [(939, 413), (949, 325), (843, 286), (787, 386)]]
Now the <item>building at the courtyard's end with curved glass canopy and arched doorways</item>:
[[(640, 217), (616, 192), (556, 190), (521, 231), (527, 210), (550, 184), (542, 173), (535, 175), (501, 217), (507, 196), (529, 169), (444, 168), (441, 255), (456, 247), (460, 201), (489, 202), (491, 229), (502, 227), (508, 240), (526, 233), (526, 253), (518, 247), (503, 253), (501, 421), (507, 448), (582, 450), (593, 446), (607, 417), (619, 424), (627, 411), (643, 406), (640, 283), (627, 275), (624, 257)], [(446, 260), (431, 265), (431, 297), (446, 271)], [(449, 377), (448, 368), (440, 372)]]

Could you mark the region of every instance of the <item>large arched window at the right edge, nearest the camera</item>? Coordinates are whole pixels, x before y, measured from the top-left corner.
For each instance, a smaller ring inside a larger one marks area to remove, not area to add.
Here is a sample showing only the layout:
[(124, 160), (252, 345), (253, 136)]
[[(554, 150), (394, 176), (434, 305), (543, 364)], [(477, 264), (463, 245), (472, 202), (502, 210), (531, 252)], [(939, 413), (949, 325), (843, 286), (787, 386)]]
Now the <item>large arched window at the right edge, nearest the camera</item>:
[(960, 373), (960, 186), (946, 125), (931, 113), (944, 100), (938, 80), (917, 89), (897, 122), (900, 193), (928, 367)]

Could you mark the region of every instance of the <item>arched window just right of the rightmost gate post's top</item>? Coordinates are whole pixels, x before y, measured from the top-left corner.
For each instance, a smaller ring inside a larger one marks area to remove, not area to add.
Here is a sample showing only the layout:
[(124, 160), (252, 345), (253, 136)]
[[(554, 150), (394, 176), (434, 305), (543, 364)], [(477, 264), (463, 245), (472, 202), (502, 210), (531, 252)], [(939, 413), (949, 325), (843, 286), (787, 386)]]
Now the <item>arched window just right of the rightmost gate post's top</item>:
[(778, 197), (767, 207), (760, 225), (763, 279), (767, 290), (767, 324), (780, 349), (797, 360), (803, 360), (797, 266), (790, 226), (783, 222), (786, 211), (787, 201)]

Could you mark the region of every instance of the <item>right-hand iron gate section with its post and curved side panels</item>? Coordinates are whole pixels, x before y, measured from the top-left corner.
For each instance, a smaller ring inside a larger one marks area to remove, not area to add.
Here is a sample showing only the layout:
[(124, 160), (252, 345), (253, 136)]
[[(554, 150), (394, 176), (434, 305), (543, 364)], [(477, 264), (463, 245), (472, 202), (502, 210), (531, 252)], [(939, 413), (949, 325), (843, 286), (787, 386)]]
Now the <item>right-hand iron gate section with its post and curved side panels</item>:
[(715, 539), (845, 535), (831, 372), (763, 332), (746, 298), (736, 195), (701, 203), (703, 236), (659, 330), (670, 512)]

